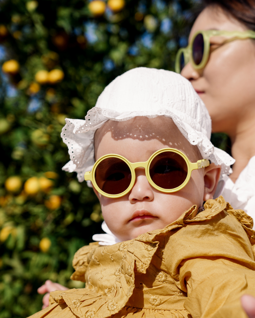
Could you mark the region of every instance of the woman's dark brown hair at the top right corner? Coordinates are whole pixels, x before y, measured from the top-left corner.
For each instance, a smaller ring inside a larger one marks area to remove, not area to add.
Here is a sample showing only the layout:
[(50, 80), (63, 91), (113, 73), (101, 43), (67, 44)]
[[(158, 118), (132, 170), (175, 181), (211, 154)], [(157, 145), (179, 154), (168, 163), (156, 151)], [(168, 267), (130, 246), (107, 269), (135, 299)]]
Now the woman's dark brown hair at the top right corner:
[(219, 6), (226, 13), (255, 31), (255, 0), (201, 0), (199, 11), (208, 6)]

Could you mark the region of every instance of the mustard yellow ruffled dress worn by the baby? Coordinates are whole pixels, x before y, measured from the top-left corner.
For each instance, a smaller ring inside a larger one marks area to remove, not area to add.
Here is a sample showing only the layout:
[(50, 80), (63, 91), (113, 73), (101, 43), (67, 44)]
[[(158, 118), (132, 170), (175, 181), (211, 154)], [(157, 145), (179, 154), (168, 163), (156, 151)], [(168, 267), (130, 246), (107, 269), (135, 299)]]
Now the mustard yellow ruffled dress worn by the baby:
[(252, 223), (219, 197), (134, 240), (91, 243), (71, 277), (86, 287), (51, 293), (31, 318), (245, 318), (240, 297), (255, 296)]

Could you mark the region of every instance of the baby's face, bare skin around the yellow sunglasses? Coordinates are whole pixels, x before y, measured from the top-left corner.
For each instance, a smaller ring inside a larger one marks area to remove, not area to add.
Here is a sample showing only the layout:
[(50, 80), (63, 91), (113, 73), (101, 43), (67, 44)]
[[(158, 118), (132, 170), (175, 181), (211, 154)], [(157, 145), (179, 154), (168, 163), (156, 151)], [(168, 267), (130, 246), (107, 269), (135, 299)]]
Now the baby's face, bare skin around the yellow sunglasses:
[[(202, 159), (166, 117), (148, 119), (136, 117), (129, 121), (108, 121), (95, 134), (95, 159), (107, 154), (119, 154), (130, 162), (147, 161), (157, 150), (175, 148), (191, 162)], [(204, 169), (193, 170), (188, 184), (180, 191), (163, 193), (152, 187), (144, 168), (136, 169), (132, 190), (119, 198), (109, 198), (96, 192), (103, 217), (111, 232), (121, 241), (131, 240), (154, 229), (164, 228), (193, 205), (202, 206)]]

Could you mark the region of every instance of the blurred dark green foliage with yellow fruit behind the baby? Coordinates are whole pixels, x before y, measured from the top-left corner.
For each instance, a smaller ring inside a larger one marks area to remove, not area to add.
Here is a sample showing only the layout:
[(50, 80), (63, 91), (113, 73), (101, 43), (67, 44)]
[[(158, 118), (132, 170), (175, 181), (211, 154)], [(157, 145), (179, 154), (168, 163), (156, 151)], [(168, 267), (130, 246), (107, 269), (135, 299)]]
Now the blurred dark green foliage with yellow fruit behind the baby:
[[(173, 70), (195, 1), (0, 1), (0, 318), (41, 309), (46, 279), (68, 287), (73, 254), (100, 233), (100, 206), (60, 138), (105, 86), (139, 67)], [(222, 142), (222, 139), (219, 139)]]

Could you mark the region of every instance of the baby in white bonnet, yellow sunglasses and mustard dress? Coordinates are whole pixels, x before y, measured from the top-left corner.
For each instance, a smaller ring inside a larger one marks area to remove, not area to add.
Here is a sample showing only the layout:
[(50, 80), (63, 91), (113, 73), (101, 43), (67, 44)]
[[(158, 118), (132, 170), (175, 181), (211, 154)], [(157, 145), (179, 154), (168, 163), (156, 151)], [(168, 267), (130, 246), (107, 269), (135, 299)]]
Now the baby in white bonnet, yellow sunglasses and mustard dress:
[[(245, 317), (255, 296), (252, 219), (213, 199), (233, 159), (188, 80), (137, 68), (111, 82), (86, 120), (67, 119), (63, 169), (93, 187), (106, 234), (74, 256), (86, 287), (50, 294), (39, 317)], [(206, 203), (204, 203), (206, 201)]]

